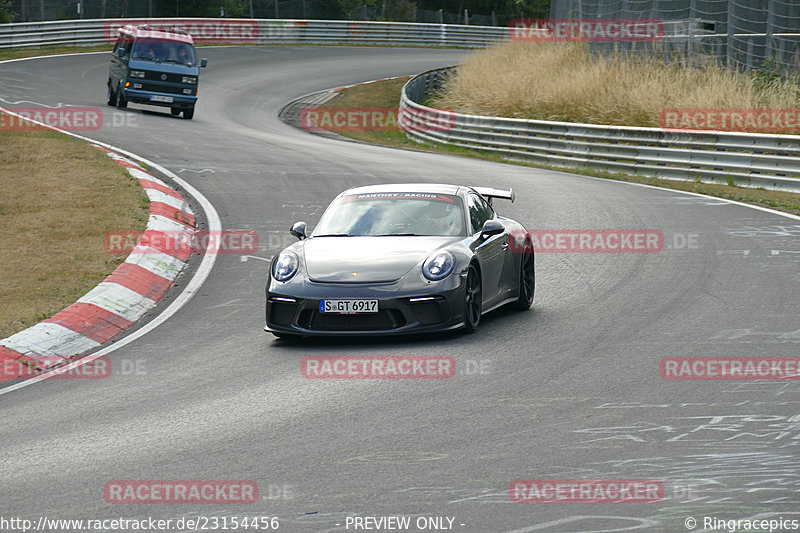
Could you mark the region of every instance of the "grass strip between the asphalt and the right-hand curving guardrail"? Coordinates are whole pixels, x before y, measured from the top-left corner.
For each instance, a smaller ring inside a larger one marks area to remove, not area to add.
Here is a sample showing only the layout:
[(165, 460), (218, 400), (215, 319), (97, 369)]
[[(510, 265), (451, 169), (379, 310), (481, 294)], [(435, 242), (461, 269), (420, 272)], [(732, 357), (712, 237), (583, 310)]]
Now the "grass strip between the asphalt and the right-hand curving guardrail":
[[(399, 78), (395, 80), (357, 85), (355, 87), (342, 90), (337, 98), (319, 107), (322, 109), (394, 108), (394, 112), (396, 113), (397, 105), (398, 102), (400, 101), (400, 89), (406, 83), (406, 81), (408, 81), (408, 78)], [(468, 157), (476, 157), (479, 159), (487, 159), (490, 161), (514, 163), (518, 165), (524, 165), (536, 168), (547, 168), (551, 170), (560, 170), (564, 172), (570, 172), (573, 174), (582, 174), (586, 176), (607, 178), (617, 181), (629, 181), (633, 183), (642, 183), (645, 185), (654, 185), (658, 187), (664, 187), (667, 189), (696, 192), (700, 194), (706, 194), (709, 196), (716, 196), (718, 198), (725, 198), (728, 200), (735, 200), (738, 202), (758, 205), (761, 207), (769, 207), (771, 209), (792, 213), (794, 215), (800, 215), (800, 194), (795, 194), (795, 193), (782, 192), (782, 191), (769, 191), (766, 189), (754, 189), (754, 188), (736, 187), (729, 185), (715, 185), (715, 184), (700, 183), (696, 181), (664, 180), (658, 178), (648, 178), (644, 176), (629, 176), (626, 174), (614, 174), (614, 173), (599, 172), (586, 169), (573, 169), (573, 168), (566, 169), (563, 167), (548, 166), (548, 165), (534, 164), (528, 162), (509, 161), (491, 152), (468, 150), (466, 148), (438, 145), (433, 143), (420, 144), (415, 141), (409, 140), (403, 132), (398, 130), (336, 131), (336, 133), (351, 139), (356, 139), (359, 141), (370, 142), (375, 144), (383, 144), (401, 148), (413, 148), (429, 152), (439, 152), (439, 153), (455, 154)]]

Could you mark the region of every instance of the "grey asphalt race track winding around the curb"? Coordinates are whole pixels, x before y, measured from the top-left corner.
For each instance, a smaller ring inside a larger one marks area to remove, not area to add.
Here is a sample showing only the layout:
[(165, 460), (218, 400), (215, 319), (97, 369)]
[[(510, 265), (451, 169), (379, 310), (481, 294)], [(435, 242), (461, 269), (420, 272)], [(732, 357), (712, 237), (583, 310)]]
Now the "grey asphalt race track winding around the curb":
[[(184, 308), (111, 354), (138, 372), (0, 396), (0, 516), (268, 516), (287, 532), (367, 530), (346, 529), (348, 516), (411, 517), (408, 530), (420, 531), (420, 517), (448, 517), (452, 526), (445, 519), (439, 530), (552, 533), (800, 519), (800, 382), (667, 380), (659, 370), (665, 357), (800, 356), (799, 220), (342, 142), (277, 118), (300, 95), (454, 64), (461, 51), (201, 51), (209, 67), (191, 121), (107, 107), (106, 54), (0, 64), (0, 105), (101, 108), (105, 126), (87, 136), (170, 169), (211, 201), (224, 229), (255, 230), (261, 243), (258, 258), (220, 255)], [(291, 241), (291, 223), (313, 227), (347, 187), (395, 181), (510, 186), (516, 202), (496, 206), (526, 227), (658, 230), (663, 249), (539, 253), (533, 309), (485, 316), (471, 335), (287, 342), (264, 333), (260, 259)], [(308, 355), (452, 356), (456, 375), (306, 379)], [(513, 503), (516, 479), (660, 480), (663, 495)], [(104, 486), (113, 480), (252, 480), (260, 498), (111, 504)], [(397, 531), (385, 524), (371, 530)]]

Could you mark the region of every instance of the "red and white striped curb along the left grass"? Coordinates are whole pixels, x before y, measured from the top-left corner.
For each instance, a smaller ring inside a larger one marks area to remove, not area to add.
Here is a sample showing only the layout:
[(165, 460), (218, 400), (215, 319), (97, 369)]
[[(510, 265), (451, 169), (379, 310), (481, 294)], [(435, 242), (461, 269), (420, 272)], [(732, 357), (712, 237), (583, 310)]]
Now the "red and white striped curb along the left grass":
[[(124, 263), (77, 302), (0, 340), (0, 365), (16, 361), (44, 370), (97, 348), (154, 308), (186, 266), (191, 252), (168, 245), (171, 239), (191, 242), (194, 235), (195, 216), (186, 199), (131, 159), (97, 148), (126, 167), (150, 199), (143, 238)], [(0, 372), (0, 381), (6, 379), (12, 378)]]

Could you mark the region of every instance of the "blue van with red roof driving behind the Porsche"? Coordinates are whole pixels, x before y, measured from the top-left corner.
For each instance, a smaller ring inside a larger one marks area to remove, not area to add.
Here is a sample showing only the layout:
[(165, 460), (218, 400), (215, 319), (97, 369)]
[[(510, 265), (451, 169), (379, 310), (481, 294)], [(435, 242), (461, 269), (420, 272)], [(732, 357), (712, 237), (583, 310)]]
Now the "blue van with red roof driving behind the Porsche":
[(119, 28), (108, 70), (108, 105), (128, 102), (169, 107), (173, 115), (194, 116), (199, 67), (191, 35), (175, 28), (128, 25)]

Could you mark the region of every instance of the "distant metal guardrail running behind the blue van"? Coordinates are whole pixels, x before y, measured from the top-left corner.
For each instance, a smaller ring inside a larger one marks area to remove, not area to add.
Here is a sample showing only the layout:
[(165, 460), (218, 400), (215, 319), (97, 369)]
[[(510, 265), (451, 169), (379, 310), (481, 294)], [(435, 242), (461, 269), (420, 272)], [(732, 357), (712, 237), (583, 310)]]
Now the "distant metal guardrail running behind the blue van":
[(271, 19), (91, 19), (0, 24), (0, 48), (92, 45), (127, 23), (175, 25), (201, 43), (376, 44), (483, 47), (509, 39), (508, 28), (409, 22)]

